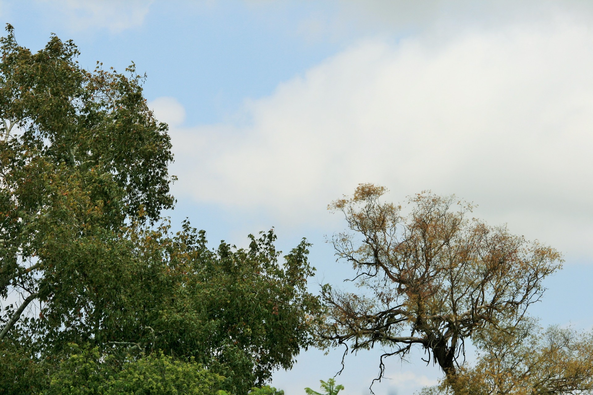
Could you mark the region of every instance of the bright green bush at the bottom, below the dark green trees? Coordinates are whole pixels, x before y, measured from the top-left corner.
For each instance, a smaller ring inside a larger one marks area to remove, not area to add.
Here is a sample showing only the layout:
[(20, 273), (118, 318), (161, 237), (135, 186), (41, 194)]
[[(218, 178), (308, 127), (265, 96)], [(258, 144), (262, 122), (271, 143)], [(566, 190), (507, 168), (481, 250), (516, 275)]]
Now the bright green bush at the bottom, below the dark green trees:
[(71, 344), (44, 395), (216, 395), (223, 377), (196, 364), (156, 353), (119, 363), (98, 348)]

